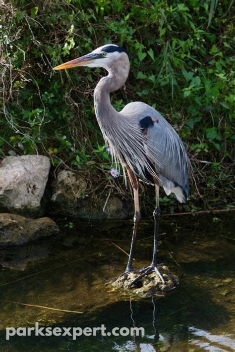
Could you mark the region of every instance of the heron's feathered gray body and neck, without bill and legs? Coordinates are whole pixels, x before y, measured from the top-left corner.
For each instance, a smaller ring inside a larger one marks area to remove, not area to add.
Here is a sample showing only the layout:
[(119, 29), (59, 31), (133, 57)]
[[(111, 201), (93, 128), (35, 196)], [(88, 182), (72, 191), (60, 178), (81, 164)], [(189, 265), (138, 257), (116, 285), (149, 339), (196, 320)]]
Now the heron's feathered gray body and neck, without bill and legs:
[[(112, 46), (102, 48), (107, 47)], [(123, 86), (128, 77), (125, 52), (122, 61), (109, 67), (109, 75), (100, 80), (94, 93), (96, 117), (106, 143), (117, 160), (123, 166), (128, 164), (140, 180), (154, 184), (152, 176), (157, 176), (167, 195), (173, 192), (179, 202), (184, 202), (189, 194), (189, 160), (174, 128), (144, 102), (130, 102), (120, 112), (110, 102), (110, 93)]]

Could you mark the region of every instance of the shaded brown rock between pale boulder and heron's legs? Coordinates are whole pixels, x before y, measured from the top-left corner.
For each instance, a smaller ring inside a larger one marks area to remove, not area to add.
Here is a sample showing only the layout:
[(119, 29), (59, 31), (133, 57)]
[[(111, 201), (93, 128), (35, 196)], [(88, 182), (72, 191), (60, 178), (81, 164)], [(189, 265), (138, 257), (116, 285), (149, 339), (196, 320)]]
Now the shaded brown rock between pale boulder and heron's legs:
[(117, 196), (104, 194), (94, 201), (87, 192), (87, 180), (80, 173), (59, 171), (52, 188), (55, 211), (87, 219), (126, 219), (132, 215), (129, 204)]

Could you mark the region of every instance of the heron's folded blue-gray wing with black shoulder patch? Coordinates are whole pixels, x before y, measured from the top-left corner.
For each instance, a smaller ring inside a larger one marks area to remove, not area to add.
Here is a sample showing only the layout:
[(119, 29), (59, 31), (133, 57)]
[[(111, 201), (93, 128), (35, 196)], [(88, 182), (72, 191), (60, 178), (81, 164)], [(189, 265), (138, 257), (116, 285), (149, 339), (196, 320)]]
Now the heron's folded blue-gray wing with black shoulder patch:
[(166, 193), (170, 194), (173, 187), (180, 186), (187, 198), (188, 171), (191, 164), (174, 128), (156, 109), (143, 102), (127, 104), (121, 114), (127, 118), (134, 115), (138, 120), (145, 138), (148, 139), (146, 152), (150, 160), (157, 160), (156, 170), (162, 176), (162, 186)]

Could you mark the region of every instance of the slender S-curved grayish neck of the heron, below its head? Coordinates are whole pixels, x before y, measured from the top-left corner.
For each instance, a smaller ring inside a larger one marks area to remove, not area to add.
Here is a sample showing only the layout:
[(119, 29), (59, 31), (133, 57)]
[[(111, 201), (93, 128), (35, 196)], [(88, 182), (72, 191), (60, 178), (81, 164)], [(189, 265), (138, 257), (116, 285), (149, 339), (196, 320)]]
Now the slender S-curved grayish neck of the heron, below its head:
[(124, 85), (129, 73), (129, 60), (127, 60), (119, 62), (119, 65), (117, 62), (116, 65), (109, 67), (108, 76), (103, 77), (96, 86), (94, 105), (101, 128), (104, 128), (110, 120), (119, 115), (110, 102), (110, 93), (117, 91)]

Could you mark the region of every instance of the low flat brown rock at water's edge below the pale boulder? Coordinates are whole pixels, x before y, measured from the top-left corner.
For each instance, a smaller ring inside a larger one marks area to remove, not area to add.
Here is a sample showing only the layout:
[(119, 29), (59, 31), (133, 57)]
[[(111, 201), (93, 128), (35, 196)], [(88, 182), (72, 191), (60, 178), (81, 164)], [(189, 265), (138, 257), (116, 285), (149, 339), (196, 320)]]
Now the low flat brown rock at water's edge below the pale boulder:
[(59, 227), (48, 217), (28, 219), (15, 214), (0, 214), (0, 245), (21, 245), (57, 232)]

